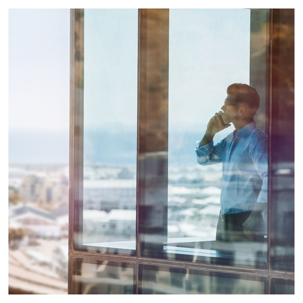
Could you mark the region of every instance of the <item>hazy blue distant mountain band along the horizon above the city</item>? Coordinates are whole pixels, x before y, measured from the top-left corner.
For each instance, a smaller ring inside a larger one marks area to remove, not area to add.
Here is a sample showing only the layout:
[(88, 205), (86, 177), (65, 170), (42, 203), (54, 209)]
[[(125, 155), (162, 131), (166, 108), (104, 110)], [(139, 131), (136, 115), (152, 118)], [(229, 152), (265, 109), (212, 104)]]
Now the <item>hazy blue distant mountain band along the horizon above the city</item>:
[[(200, 131), (170, 131), (169, 163), (195, 164), (195, 142)], [(226, 136), (217, 134), (216, 141)], [(87, 130), (84, 134), (86, 163), (134, 164), (137, 153), (137, 134), (125, 130)], [(69, 134), (42, 131), (10, 131), (9, 162), (68, 163)]]

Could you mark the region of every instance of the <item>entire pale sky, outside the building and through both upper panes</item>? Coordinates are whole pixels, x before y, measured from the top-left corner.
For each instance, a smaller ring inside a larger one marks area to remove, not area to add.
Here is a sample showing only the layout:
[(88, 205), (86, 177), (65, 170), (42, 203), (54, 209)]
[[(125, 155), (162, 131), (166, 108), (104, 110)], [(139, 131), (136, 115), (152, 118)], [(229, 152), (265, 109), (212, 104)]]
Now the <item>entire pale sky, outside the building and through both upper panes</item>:
[[(68, 161), (69, 14), (9, 10), (10, 162)], [(135, 132), (137, 9), (85, 16), (84, 128)], [(170, 11), (170, 130), (203, 132), (227, 85), (249, 81), (249, 23), (245, 9)]]

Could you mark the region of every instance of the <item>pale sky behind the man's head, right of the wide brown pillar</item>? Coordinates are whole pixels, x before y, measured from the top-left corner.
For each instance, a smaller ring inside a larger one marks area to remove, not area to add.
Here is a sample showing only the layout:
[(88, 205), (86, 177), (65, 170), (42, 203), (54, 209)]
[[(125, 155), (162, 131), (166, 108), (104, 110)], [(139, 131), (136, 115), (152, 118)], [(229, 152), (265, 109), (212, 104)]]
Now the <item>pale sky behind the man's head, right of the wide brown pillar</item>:
[(203, 134), (227, 86), (249, 84), (250, 10), (172, 9), (169, 26), (169, 130)]

